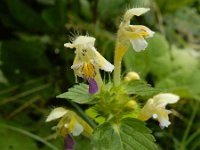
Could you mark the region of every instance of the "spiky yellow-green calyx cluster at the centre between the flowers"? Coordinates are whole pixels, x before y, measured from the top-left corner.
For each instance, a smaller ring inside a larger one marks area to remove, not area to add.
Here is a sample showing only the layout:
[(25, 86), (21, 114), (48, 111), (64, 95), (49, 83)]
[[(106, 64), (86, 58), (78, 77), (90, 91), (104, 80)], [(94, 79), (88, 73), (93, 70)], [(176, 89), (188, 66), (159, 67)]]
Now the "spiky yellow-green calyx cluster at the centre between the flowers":
[(139, 106), (124, 88), (124, 84), (118, 87), (112, 83), (103, 85), (99, 94), (95, 96), (97, 103), (86, 113), (99, 124), (105, 121), (116, 122), (126, 116), (135, 118)]

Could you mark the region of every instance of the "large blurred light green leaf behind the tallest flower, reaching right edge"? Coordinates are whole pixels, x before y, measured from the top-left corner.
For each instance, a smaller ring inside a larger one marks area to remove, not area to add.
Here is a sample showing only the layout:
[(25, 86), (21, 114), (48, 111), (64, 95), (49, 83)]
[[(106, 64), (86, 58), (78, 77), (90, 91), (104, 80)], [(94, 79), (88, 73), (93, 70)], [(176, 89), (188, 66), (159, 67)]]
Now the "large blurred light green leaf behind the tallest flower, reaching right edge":
[[(153, 82), (156, 88), (185, 98), (200, 99), (200, 66), (198, 57), (192, 52), (192, 49), (176, 47), (170, 50), (165, 38), (156, 34), (149, 40), (149, 46), (144, 52), (136, 53), (130, 49), (124, 62), (127, 70), (142, 72), (141, 76)], [(134, 86), (132, 90), (134, 94)]]

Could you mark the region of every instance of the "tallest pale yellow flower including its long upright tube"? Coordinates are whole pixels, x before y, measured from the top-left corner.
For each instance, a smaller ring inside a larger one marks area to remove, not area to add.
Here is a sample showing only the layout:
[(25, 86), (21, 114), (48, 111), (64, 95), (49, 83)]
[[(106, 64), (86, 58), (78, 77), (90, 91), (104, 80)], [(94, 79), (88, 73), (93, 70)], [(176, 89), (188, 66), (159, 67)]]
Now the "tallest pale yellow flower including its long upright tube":
[(144, 38), (154, 35), (154, 32), (143, 25), (131, 25), (130, 20), (133, 16), (140, 16), (149, 11), (149, 8), (132, 8), (126, 11), (123, 20), (117, 31), (117, 41), (114, 56), (114, 84), (120, 85), (122, 58), (131, 44), (136, 52), (145, 50), (148, 43)]

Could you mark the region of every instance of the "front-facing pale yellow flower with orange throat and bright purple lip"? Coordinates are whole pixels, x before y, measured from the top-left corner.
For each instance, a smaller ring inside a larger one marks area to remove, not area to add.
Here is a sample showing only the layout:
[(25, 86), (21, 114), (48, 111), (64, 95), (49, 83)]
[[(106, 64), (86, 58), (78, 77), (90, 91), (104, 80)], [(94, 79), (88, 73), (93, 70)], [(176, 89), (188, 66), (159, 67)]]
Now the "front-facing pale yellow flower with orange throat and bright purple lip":
[(75, 59), (71, 66), (75, 76), (82, 77), (89, 82), (89, 92), (96, 93), (98, 86), (95, 80), (99, 69), (112, 72), (114, 66), (108, 62), (94, 47), (95, 38), (78, 36), (72, 43), (64, 44), (65, 47), (75, 48)]

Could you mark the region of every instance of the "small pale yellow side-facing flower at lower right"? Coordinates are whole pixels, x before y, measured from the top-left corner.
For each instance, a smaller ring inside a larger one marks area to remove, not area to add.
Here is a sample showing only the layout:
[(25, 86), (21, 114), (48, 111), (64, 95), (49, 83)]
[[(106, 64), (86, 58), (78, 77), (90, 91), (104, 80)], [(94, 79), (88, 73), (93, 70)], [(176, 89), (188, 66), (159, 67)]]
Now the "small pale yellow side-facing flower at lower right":
[(171, 111), (165, 109), (165, 107), (167, 104), (176, 103), (178, 100), (179, 96), (171, 93), (158, 94), (147, 101), (138, 118), (146, 121), (153, 117), (154, 119), (158, 119), (161, 128), (168, 127), (171, 124), (168, 117)]

